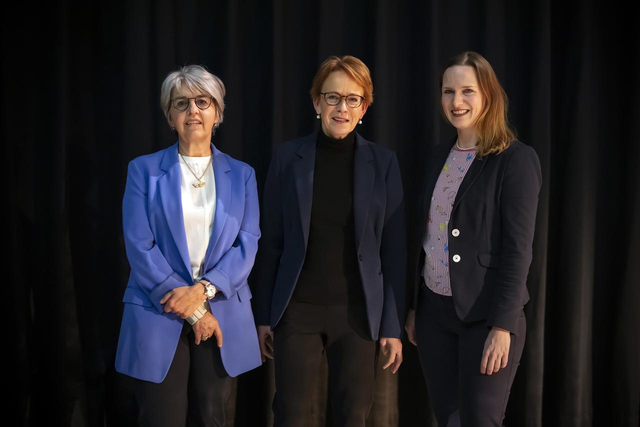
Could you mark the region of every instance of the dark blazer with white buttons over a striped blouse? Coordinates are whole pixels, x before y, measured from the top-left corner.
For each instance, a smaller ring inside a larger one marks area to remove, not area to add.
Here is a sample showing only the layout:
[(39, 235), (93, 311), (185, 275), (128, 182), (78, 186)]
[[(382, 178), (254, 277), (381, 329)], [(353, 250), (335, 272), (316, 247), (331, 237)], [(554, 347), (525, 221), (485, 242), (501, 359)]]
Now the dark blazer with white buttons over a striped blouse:
[[(413, 307), (424, 284), (422, 239), (431, 196), (456, 138), (438, 145), (429, 157), (420, 214), (412, 231), (415, 284)], [(518, 317), (529, 301), (527, 274), (532, 258), (538, 193), (542, 182), (536, 152), (514, 141), (500, 154), (476, 158), (460, 184), (447, 232), (451, 293), (463, 321), (486, 319), (487, 326), (515, 332)], [(452, 230), (458, 230), (454, 236)]]

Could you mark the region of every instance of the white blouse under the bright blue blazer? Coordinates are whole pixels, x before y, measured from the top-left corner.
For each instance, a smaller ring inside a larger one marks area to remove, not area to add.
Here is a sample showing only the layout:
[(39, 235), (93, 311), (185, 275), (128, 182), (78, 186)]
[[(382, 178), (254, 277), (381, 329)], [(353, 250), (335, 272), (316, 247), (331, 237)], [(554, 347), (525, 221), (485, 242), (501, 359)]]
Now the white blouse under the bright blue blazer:
[[(209, 165), (211, 157), (180, 156), (180, 187), (182, 189), (182, 216), (184, 216), (184, 231), (187, 235), (187, 248), (191, 261), (191, 275), (193, 282), (200, 280), (204, 275), (204, 257), (209, 246), (209, 238), (213, 229), (213, 216), (216, 212), (216, 181), (213, 173), (213, 165)], [(182, 159), (184, 157), (184, 160)], [(195, 188), (192, 184), (198, 180), (189, 171), (184, 163), (186, 161), (193, 172), (202, 175), (205, 168), (207, 172), (202, 177), (205, 185)]]

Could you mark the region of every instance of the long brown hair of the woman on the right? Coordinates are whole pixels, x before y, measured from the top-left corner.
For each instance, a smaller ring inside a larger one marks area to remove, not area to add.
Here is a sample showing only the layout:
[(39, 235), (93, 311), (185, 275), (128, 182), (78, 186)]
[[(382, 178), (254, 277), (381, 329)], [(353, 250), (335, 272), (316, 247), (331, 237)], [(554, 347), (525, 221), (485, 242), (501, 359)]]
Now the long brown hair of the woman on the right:
[[(442, 78), (447, 68), (454, 65), (468, 65), (476, 70), (476, 77), (480, 91), (484, 97), (483, 109), (476, 120), (476, 134), (478, 137), (477, 156), (499, 154), (515, 141), (515, 131), (509, 126), (507, 111), (509, 100), (500, 86), (498, 77), (490, 63), (476, 52), (467, 51), (450, 58), (440, 73), (440, 92), (442, 93)], [(446, 117), (446, 116), (445, 116)]]

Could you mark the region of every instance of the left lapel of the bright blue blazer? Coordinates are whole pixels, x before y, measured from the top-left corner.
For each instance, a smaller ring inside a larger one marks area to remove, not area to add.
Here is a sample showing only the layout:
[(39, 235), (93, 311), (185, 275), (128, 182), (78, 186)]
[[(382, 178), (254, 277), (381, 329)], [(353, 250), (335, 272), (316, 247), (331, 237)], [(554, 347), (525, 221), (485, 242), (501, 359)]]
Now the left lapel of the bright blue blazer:
[(184, 216), (182, 216), (182, 189), (180, 188), (180, 162), (178, 161), (178, 144), (164, 150), (164, 156), (160, 162), (161, 170), (166, 173), (158, 179), (158, 190), (164, 217), (169, 225), (173, 241), (180, 252), (182, 262), (188, 276), (191, 277), (191, 261), (187, 247), (187, 236), (184, 231)]

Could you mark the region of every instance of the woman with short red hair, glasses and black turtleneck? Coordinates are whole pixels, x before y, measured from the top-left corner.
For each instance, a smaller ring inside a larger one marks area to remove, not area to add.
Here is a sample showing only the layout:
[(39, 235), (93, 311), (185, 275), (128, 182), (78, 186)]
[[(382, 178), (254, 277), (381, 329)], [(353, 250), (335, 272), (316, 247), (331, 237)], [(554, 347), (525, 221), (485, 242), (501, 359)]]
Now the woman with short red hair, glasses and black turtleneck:
[(378, 343), (383, 367), (402, 362), (400, 171), (392, 151), (355, 130), (372, 91), (362, 61), (328, 58), (311, 88), (321, 129), (280, 145), (269, 166), (255, 294), (260, 350), (275, 361), (276, 426), (315, 424), (326, 357), (334, 425), (364, 427)]

